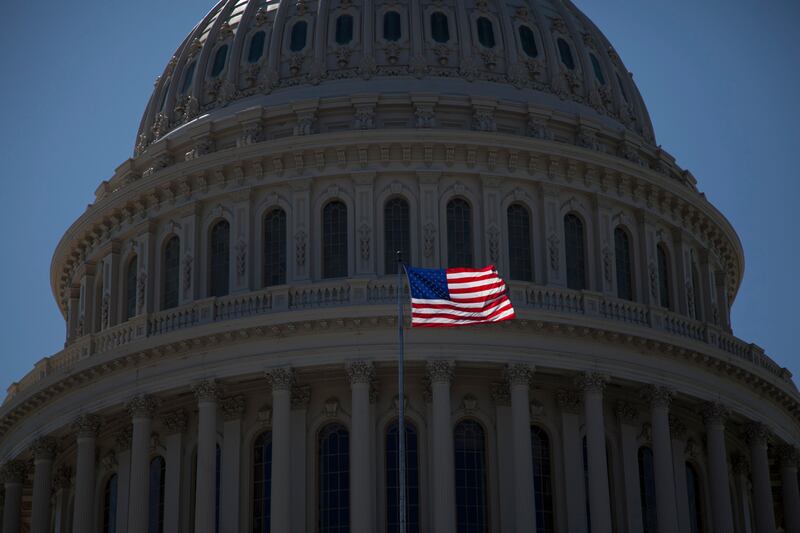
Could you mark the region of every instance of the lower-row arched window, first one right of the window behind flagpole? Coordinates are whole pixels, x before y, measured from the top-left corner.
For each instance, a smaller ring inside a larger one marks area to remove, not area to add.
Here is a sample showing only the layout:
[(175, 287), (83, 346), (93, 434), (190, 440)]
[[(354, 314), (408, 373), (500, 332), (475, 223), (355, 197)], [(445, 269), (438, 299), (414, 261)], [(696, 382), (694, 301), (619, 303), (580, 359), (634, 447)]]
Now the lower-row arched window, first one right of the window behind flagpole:
[(487, 532), (486, 442), (483, 427), (464, 420), (453, 432), (456, 473), (456, 530)]

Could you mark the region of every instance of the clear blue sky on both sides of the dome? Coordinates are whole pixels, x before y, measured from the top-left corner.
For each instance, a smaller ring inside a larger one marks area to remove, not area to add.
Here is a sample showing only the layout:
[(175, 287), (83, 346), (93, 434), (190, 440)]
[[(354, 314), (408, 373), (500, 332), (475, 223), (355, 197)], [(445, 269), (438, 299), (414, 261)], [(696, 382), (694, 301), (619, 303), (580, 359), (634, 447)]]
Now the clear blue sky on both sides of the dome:
[[(658, 142), (733, 223), (734, 331), (800, 376), (800, 3), (578, 0), (634, 73)], [(57, 352), (53, 249), (131, 154), (153, 81), (205, 0), (6, 2), (0, 32), (0, 390)], [(0, 394), (0, 397), (2, 395)]]

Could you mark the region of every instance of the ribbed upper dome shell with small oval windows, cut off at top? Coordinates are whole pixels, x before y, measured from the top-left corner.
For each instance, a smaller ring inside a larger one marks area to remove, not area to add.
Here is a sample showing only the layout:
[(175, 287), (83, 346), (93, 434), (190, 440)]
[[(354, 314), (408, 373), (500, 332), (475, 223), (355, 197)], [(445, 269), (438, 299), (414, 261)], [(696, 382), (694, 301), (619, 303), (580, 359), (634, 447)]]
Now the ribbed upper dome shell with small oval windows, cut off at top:
[(225, 0), (158, 78), (136, 153), (199, 117), (220, 120), (304, 93), (333, 99), (433, 87), (583, 115), (654, 142), (632, 76), (569, 0)]

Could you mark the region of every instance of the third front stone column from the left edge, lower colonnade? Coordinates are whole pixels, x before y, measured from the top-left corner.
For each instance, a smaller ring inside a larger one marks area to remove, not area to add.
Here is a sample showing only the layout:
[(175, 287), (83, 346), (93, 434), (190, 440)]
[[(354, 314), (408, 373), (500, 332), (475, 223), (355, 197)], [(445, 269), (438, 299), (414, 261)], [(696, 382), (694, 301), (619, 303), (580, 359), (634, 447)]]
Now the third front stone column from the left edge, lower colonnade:
[(94, 530), (95, 522), (95, 440), (100, 429), (100, 419), (95, 415), (81, 415), (72, 427), (78, 433), (72, 531), (88, 533)]

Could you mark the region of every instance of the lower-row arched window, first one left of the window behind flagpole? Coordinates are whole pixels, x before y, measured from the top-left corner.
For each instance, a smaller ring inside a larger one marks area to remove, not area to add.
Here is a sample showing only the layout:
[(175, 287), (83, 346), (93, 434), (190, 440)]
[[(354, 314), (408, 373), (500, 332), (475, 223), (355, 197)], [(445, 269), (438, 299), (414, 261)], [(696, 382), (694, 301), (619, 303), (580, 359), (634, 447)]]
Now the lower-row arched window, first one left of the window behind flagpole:
[(319, 533), (350, 531), (350, 436), (341, 424), (319, 434)]

